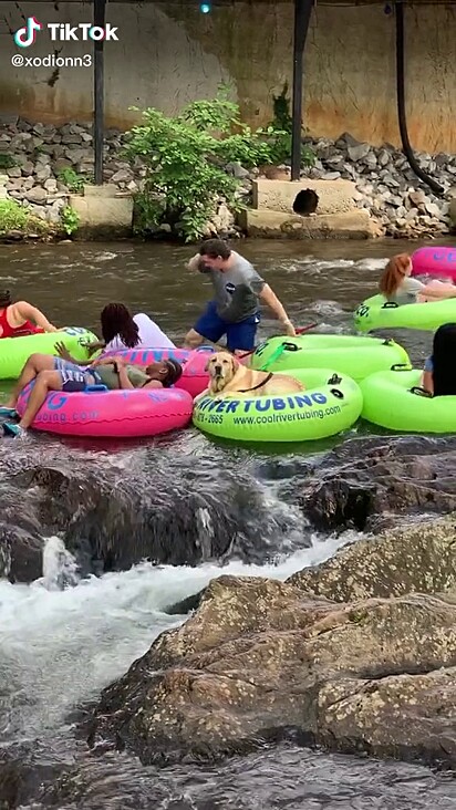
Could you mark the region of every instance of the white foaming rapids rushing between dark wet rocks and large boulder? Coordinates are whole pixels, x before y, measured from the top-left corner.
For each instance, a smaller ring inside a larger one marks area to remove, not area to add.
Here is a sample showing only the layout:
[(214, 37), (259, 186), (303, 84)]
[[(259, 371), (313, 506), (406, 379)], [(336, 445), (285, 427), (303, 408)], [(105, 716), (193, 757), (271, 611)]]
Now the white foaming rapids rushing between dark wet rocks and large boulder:
[(62, 552), (58, 538), (50, 538), (43, 580), (31, 585), (0, 581), (0, 681), (10, 705), (9, 741), (53, 734), (74, 705), (94, 698), (159, 633), (180, 624), (184, 616), (165, 610), (198, 593), (211, 579), (243, 574), (286, 580), (355, 537), (314, 536), (311, 548), (282, 557), (277, 564), (231, 561), (193, 569), (143, 563), (64, 590), (52, 584), (74, 574), (71, 554)]

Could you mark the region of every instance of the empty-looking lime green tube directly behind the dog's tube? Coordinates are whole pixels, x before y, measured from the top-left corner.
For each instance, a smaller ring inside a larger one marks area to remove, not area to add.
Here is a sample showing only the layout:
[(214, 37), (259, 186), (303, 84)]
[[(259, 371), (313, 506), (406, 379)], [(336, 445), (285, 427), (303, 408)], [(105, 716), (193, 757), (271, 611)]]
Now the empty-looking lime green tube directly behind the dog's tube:
[(410, 366), (408, 355), (398, 343), (380, 338), (346, 334), (304, 334), (269, 338), (251, 355), (257, 371), (288, 373), (290, 368), (333, 367), (355, 382), (395, 365)]

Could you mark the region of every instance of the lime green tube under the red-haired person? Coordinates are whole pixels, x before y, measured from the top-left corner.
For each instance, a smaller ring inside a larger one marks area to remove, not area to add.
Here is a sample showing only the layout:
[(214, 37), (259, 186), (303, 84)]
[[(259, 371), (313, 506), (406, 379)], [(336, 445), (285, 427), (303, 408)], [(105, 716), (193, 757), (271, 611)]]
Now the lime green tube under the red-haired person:
[(435, 331), (443, 323), (456, 322), (456, 298), (427, 303), (402, 304), (372, 295), (355, 310), (354, 325), (359, 332), (373, 329), (422, 329)]

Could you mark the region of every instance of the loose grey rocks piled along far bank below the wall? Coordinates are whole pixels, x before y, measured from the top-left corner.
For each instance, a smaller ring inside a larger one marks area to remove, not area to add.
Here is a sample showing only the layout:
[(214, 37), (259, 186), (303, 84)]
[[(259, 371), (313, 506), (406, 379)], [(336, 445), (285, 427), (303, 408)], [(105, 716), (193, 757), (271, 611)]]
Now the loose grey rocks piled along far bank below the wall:
[[(120, 131), (106, 131), (103, 179), (112, 188), (111, 197), (123, 202), (142, 190), (145, 177), (141, 160), (131, 164), (123, 155), (125, 143)], [(345, 133), (336, 141), (304, 138), (303, 145), (309, 165), (303, 168), (302, 178), (353, 181), (353, 205), (369, 211), (377, 236), (442, 239), (450, 233), (452, 219), (456, 222), (456, 155), (416, 155), (422, 169), (441, 184), (443, 195), (437, 196), (418, 180), (403, 153), (388, 144), (373, 147)], [(75, 212), (72, 216), (71, 199), (79, 198), (84, 187), (93, 184), (93, 160), (89, 125), (68, 123), (55, 127), (20, 118), (1, 125), (0, 240), (13, 241), (22, 235), (34, 240), (77, 238), (79, 217)], [(252, 205), (253, 180), (290, 176), (284, 165), (249, 170), (239, 164), (227, 164), (226, 172), (238, 179), (239, 199), (247, 207)], [(38, 228), (29, 228), (27, 233), (21, 227), (2, 228), (2, 200), (27, 207), (34, 220), (42, 222), (41, 232)], [(133, 229), (131, 222), (131, 236)], [(96, 237), (96, 225), (93, 230), (92, 236)], [(101, 232), (106, 236), (105, 228)], [(122, 232), (125, 236), (125, 222)], [(222, 197), (205, 235), (242, 236)], [(151, 222), (145, 236), (169, 239), (170, 225), (155, 228)]]

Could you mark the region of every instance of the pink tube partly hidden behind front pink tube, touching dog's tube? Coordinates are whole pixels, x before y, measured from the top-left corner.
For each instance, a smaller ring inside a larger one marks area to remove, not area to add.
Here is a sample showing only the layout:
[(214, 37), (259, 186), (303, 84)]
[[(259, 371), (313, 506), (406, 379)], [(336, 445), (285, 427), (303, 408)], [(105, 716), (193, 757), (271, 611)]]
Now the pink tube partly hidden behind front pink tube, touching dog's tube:
[(209, 385), (209, 375), (205, 367), (210, 354), (214, 354), (214, 349), (201, 346), (193, 352), (186, 349), (123, 349), (121, 352), (106, 352), (103, 356), (123, 357), (132, 365), (177, 360), (183, 366), (183, 375), (175, 387), (188, 391), (191, 396), (198, 396)]

